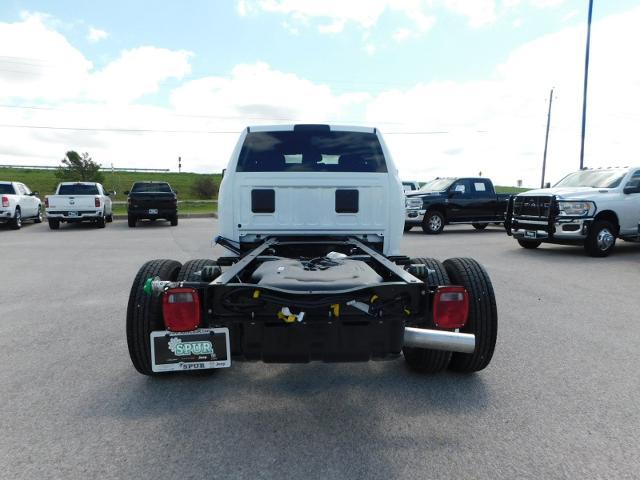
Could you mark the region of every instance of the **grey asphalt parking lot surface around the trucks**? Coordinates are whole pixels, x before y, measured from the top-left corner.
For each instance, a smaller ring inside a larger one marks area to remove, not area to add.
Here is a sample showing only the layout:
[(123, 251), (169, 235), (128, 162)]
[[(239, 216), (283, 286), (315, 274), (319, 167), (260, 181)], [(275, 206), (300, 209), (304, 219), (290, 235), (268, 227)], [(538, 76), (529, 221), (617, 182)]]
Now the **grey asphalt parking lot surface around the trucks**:
[(215, 258), (213, 219), (0, 227), (0, 477), (639, 478), (640, 245), (524, 250), (498, 227), (418, 229), (404, 253), (472, 256), (496, 290), (474, 375), (235, 363), (147, 378), (125, 339), (151, 258)]

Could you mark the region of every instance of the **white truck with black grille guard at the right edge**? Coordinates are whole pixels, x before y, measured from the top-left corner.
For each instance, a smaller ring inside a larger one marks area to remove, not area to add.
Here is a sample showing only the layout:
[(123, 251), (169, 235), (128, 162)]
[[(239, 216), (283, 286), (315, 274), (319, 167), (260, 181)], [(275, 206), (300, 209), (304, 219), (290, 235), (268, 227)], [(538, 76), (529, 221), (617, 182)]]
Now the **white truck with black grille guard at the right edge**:
[(617, 238), (640, 242), (640, 167), (580, 170), (511, 197), (505, 227), (524, 248), (582, 245), (593, 257), (609, 255)]

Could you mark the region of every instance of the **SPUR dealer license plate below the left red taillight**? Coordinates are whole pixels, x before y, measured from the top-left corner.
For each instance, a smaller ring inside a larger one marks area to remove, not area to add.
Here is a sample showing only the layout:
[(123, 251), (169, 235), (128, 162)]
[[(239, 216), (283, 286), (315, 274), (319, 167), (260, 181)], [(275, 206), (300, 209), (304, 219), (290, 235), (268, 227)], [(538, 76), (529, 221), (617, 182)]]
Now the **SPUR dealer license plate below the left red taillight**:
[(151, 369), (173, 372), (231, 366), (228, 328), (151, 332)]

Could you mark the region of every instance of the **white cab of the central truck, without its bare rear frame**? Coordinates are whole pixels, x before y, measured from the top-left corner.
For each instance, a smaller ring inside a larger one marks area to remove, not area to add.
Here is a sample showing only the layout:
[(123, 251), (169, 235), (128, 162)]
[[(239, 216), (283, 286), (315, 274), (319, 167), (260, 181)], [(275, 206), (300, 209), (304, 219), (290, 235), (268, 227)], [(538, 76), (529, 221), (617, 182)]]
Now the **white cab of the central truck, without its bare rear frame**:
[(397, 168), (374, 128), (249, 127), (218, 199), (220, 236), (242, 249), (268, 235), (354, 235), (400, 253), (404, 212)]

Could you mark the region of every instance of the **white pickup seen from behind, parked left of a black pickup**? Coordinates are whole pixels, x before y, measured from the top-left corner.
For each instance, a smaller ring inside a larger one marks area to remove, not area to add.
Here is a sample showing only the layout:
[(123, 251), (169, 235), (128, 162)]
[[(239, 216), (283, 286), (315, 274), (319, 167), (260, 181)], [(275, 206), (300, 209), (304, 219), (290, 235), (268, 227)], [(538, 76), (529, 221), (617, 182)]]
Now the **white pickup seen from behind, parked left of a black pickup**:
[(49, 228), (57, 230), (60, 223), (94, 222), (104, 228), (113, 220), (111, 199), (102, 185), (95, 182), (62, 182), (55, 195), (44, 198)]

